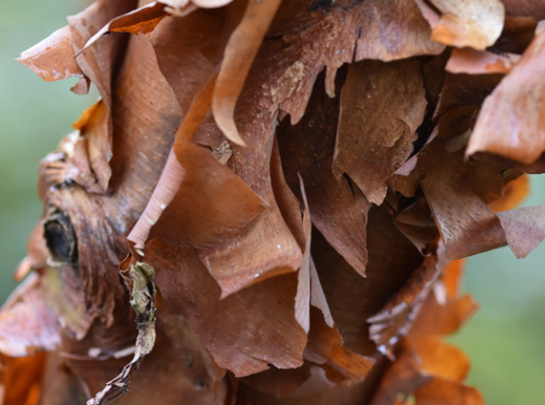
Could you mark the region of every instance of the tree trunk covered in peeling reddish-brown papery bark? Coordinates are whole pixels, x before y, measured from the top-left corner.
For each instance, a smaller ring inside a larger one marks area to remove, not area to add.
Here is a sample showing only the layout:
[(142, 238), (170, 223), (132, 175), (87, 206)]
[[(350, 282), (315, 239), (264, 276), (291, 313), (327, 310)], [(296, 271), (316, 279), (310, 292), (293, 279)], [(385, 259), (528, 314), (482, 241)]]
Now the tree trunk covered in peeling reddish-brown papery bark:
[[(5, 405), (481, 404), (462, 259), (545, 236), (545, 7), (98, 0), (19, 59), (40, 163)], [(111, 34), (106, 36), (106, 34)], [(128, 395), (125, 395), (128, 394)]]

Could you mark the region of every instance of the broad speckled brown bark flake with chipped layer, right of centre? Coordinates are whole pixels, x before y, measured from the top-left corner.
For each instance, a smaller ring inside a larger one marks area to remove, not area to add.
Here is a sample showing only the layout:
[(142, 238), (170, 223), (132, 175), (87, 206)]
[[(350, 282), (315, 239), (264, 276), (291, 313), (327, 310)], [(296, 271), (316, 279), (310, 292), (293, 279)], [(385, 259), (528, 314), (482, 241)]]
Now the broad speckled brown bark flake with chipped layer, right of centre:
[(424, 96), (418, 61), (365, 61), (349, 68), (332, 169), (337, 176), (346, 172), (371, 203), (383, 203), (386, 179), (413, 151)]

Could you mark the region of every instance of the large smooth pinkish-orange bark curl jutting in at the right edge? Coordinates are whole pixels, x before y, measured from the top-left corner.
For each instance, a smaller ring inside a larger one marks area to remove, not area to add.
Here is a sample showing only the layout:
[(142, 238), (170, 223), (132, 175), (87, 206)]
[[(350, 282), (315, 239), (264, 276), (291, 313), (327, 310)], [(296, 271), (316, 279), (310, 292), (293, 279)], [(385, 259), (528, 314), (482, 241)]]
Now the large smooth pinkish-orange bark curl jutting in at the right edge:
[(540, 23), (517, 66), (485, 100), (467, 155), (488, 151), (525, 164), (537, 161), (545, 151), (544, 69), (545, 25)]

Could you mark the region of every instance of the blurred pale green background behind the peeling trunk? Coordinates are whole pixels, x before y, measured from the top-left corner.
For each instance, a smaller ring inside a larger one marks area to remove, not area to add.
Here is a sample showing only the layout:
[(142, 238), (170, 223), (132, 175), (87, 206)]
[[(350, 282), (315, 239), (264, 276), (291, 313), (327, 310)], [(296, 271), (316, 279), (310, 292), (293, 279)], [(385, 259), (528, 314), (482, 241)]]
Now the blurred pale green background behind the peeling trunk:
[[(53, 151), (70, 123), (96, 99), (69, 91), (77, 81), (41, 81), (13, 59), (57, 28), (85, 2), (0, 2), (0, 301), (26, 254), (37, 223), (37, 162)], [(525, 205), (545, 203), (545, 176), (532, 176)], [(545, 381), (545, 244), (524, 260), (508, 248), (470, 258), (464, 290), (482, 306), (452, 341), (469, 354), (469, 383), (489, 405), (542, 405)], [(439, 404), (437, 404), (439, 405)]]

